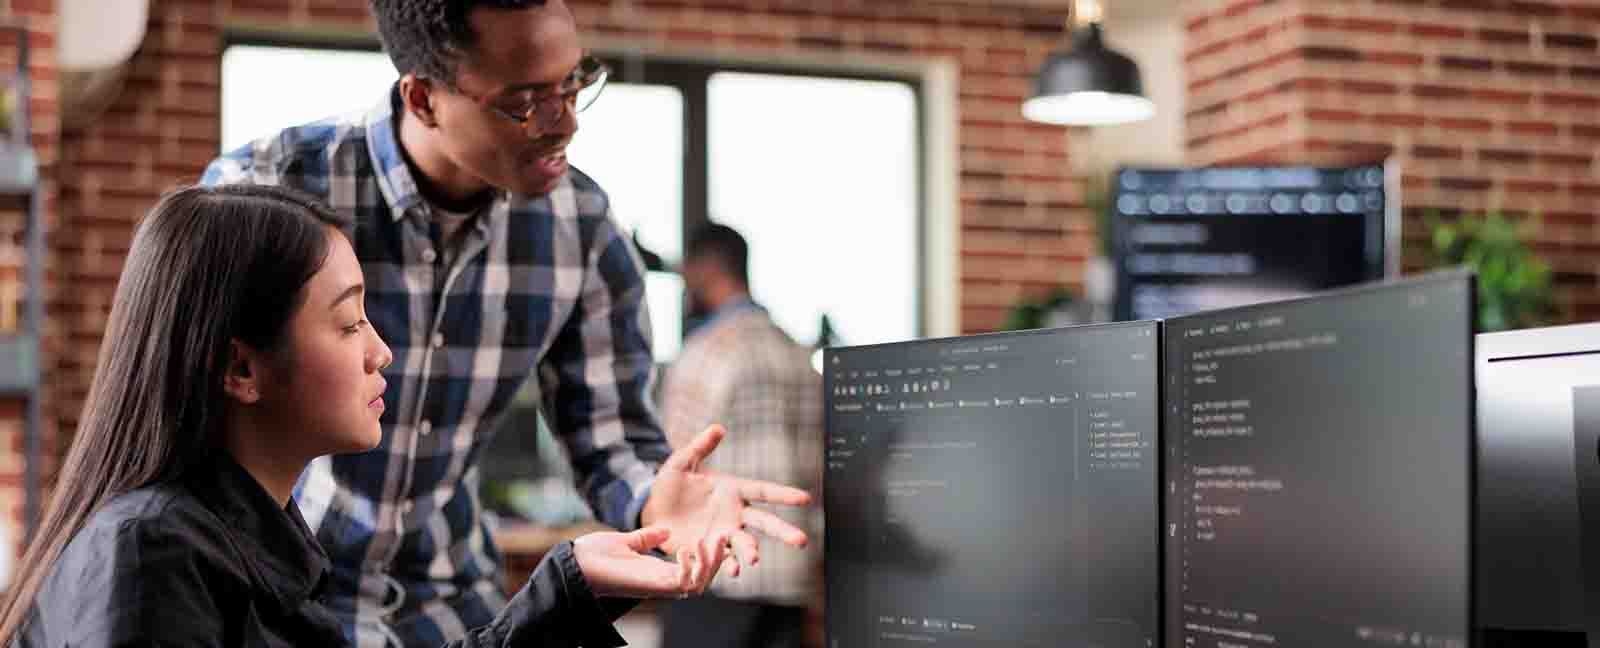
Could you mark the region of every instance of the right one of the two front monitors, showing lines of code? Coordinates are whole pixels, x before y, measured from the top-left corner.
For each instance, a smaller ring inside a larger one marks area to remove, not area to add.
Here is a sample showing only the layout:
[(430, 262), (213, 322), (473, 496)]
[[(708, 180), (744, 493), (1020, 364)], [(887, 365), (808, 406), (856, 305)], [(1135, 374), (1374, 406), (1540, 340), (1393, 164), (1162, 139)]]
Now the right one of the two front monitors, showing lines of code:
[(1469, 275), (1165, 323), (1168, 648), (1464, 648)]

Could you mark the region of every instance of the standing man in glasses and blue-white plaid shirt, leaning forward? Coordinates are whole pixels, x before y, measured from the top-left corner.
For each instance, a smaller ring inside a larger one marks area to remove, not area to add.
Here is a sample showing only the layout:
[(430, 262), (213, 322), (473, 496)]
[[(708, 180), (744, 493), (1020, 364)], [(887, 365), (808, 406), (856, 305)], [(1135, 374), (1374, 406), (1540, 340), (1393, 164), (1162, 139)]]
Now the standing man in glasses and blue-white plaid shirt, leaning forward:
[[(568, 168), (605, 67), (562, 0), (373, 0), (400, 80), (363, 115), (285, 130), (203, 182), (280, 184), (355, 216), (371, 326), (395, 363), (382, 443), (312, 462), (296, 488), (333, 558), (330, 608), (358, 646), (437, 646), (506, 605), (477, 458), (533, 376), (579, 486), (611, 526), (666, 526), (669, 555), (730, 571), (754, 531), (803, 531), (749, 502), (805, 491), (706, 470), (712, 426), (670, 453), (643, 269), (606, 194)], [(528, 430), (533, 434), (533, 430)]]

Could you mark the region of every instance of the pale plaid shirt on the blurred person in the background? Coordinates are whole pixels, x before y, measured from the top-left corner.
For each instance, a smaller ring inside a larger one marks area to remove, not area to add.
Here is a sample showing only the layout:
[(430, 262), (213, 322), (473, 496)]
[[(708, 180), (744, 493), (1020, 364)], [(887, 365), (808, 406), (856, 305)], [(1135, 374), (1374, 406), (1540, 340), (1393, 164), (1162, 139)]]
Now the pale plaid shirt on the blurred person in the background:
[[(661, 384), (661, 419), (674, 446), (722, 422), (723, 438), (706, 467), (739, 477), (822, 490), (822, 374), (811, 350), (795, 344), (749, 301), (723, 306), (701, 325)], [(811, 536), (803, 550), (757, 536), (762, 562), (739, 578), (723, 568), (710, 592), (725, 598), (805, 606), (819, 594), (822, 509), (771, 507)]]

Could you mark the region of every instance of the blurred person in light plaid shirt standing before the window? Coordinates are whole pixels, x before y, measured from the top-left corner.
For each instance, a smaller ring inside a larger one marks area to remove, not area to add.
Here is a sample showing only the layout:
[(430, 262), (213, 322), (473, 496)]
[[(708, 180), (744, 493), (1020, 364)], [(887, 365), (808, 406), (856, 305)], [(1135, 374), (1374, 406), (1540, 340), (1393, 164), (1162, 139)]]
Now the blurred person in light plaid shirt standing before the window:
[[(690, 240), (683, 283), (699, 325), (667, 370), (661, 413), (667, 438), (686, 443), (712, 421), (739, 430), (706, 464), (720, 472), (814, 491), (822, 483), (822, 376), (811, 349), (795, 344), (750, 299), (749, 245), (709, 224)], [(821, 512), (786, 510), (789, 523), (821, 538)], [(800, 646), (808, 613), (819, 616), (821, 547), (762, 546), (762, 568), (712, 582), (709, 595), (670, 602), (664, 648)]]

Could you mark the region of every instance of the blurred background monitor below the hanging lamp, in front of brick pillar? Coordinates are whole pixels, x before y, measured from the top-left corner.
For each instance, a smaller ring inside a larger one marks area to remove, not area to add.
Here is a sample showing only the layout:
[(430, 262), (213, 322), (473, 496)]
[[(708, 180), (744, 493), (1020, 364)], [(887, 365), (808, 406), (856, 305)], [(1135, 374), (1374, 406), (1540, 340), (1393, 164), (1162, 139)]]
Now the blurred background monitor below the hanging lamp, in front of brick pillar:
[(1122, 168), (1112, 176), (1120, 320), (1312, 294), (1398, 270), (1384, 165)]

